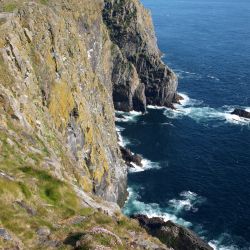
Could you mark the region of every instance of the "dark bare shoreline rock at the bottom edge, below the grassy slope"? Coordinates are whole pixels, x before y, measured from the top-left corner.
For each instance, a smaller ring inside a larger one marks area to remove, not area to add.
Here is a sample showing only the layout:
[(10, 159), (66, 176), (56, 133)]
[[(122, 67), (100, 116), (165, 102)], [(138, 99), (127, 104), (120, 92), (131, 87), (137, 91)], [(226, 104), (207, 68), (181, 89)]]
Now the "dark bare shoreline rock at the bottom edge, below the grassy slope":
[(148, 218), (146, 215), (133, 215), (132, 218), (167, 247), (175, 250), (213, 250), (194, 232), (172, 221), (165, 222), (159, 217)]

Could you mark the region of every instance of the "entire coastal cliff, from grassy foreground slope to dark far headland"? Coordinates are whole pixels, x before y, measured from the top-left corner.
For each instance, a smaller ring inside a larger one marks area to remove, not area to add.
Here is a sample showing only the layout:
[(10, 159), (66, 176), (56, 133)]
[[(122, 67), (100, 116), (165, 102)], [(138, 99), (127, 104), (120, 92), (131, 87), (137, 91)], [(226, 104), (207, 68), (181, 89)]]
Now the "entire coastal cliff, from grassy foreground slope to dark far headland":
[(171, 106), (138, 0), (0, 1), (0, 248), (168, 249), (121, 214), (115, 108)]

